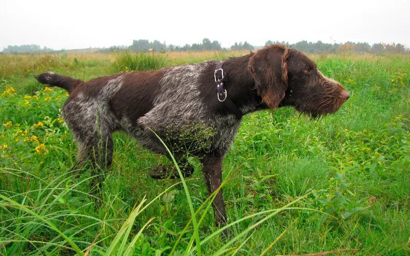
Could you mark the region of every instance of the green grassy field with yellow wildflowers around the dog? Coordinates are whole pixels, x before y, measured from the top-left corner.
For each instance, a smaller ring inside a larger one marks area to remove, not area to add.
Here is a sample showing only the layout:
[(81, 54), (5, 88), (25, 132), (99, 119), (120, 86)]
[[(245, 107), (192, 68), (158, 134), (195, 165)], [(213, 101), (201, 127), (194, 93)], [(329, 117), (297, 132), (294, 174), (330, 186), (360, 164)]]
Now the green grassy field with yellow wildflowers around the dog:
[(0, 254), (410, 254), (409, 55), (313, 55), (351, 93), (336, 114), (244, 117), (223, 164), (228, 237), (198, 160), (186, 185), (153, 180), (167, 158), (121, 133), (94, 207), (90, 172), (68, 173), (77, 150), (59, 112), (67, 93), (32, 74), (88, 80), (241, 54), (0, 56)]

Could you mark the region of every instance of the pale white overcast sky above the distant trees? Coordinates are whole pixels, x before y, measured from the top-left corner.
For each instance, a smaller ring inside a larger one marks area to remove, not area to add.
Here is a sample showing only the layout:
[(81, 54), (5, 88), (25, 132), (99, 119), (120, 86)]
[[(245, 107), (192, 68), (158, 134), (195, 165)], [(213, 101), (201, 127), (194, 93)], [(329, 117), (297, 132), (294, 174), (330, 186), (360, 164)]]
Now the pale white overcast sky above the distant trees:
[(0, 51), (36, 44), (54, 50), (156, 39), (222, 47), (267, 40), (395, 42), (410, 47), (410, 1), (19, 1), (0, 0)]

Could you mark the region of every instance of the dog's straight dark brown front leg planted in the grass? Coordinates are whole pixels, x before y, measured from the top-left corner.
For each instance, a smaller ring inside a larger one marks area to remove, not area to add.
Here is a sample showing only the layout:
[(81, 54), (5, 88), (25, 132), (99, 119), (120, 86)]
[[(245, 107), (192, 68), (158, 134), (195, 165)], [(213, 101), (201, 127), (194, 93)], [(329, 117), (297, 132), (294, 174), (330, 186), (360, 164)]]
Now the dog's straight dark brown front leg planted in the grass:
[[(223, 158), (224, 156), (207, 156), (202, 160), (202, 172), (205, 176), (205, 183), (207, 184), (209, 194), (212, 194), (221, 185)], [(216, 195), (212, 206), (215, 212), (216, 226), (226, 225), (227, 214), (222, 198), (222, 189)]]

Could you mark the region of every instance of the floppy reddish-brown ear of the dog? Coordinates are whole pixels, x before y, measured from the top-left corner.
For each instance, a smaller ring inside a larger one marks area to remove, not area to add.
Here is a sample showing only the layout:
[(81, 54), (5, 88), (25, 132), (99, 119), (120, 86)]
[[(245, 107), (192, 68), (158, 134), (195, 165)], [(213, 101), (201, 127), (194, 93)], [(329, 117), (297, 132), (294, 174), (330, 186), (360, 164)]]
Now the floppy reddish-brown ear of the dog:
[(257, 51), (249, 60), (258, 95), (269, 108), (278, 108), (288, 89), (288, 57), (285, 46), (269, 46)]

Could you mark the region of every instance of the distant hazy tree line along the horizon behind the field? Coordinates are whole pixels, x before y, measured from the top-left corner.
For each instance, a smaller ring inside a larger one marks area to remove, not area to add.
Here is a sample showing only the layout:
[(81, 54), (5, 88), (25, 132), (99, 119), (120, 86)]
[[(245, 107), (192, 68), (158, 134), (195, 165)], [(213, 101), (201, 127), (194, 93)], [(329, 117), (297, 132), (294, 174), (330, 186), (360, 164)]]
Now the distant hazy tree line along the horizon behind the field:
[[(265, 46), (271, 44), (287, 45), (293, 49), (306, 52), (306, 53), (409, 53), (409, 50), (402, 44), (383, 44), (377, 43), (369, 45), (367, 42), (344, 42), (329, 44), (322, 41), (308, 42), (302, 40), (295, 44), (289, 44), (285, 41), (272, 41), (268, 40)], [(222, 48), (219, 41), (211, 41), (208, 38), (203, 38), (202, 42), (197, 44), (186, 44), (185, 46), (167, 45), (166, 42), (160, 42), (158, 40), (149, 41), (147, 39), (133, 40), (131, 46), (112, 46), (109, 48), (100, 48), (98, 51), (103, 53), (116, 52), (129, 50), (133, 52), (180, 52), (180, 51), (221, 51), (221, 50), (255, 50), (262, 46), (253, 46), (249, 42), (235, 42), (229, 48)], [(38, 45), (22, 45), (22, 46), (8, 46), (3, 50), (3, 53), (57, 53), (61, 51), (53, 51), (50, 48), (41, 48)], [(64, 50), (63, 50), (64, 52)]]

